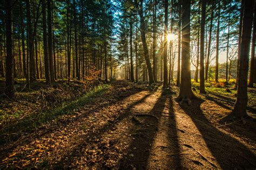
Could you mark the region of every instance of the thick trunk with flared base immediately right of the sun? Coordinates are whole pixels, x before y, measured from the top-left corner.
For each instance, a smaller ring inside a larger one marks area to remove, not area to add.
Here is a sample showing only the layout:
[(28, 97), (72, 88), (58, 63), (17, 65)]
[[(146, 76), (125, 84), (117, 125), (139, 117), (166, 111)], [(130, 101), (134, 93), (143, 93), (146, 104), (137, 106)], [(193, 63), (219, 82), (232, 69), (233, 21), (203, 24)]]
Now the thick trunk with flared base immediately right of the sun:
[(194, 94), (191, 89), (190, 72), (190, 0), (182, 0), (182, 42), (181, 82), (177, 101), (191, 103)]

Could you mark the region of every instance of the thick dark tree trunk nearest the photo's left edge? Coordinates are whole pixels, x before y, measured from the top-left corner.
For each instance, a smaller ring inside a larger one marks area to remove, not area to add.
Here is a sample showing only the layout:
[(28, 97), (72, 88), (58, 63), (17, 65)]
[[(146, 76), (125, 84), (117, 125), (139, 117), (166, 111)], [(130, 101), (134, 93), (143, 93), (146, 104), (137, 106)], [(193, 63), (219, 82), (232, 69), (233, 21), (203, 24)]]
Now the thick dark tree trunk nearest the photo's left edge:
[(6, 81), (5, 95), (14, 97), (14, 55), (12, 53), (12, 0), (5, 0), (5, 22), (6, 22)]

